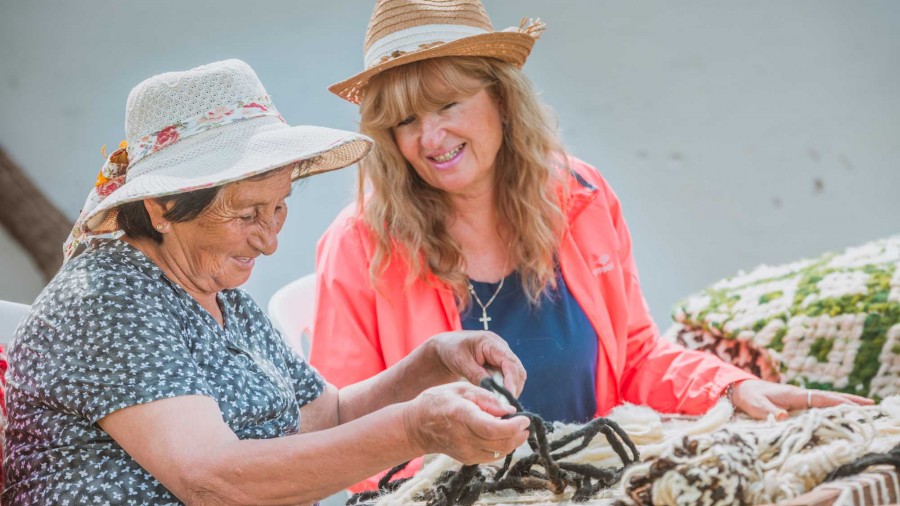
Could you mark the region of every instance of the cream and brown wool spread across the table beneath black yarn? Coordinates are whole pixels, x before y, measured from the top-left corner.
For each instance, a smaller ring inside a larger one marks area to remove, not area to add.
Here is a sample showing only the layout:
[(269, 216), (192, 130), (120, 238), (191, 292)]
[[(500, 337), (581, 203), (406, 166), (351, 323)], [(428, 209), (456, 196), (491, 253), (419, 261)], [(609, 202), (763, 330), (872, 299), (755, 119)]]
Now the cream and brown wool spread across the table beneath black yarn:
[[(723, 400), (700, 418), (670, 417), (644, 406), (622, 405), (608, 416), (631, 437), (644, 459), (628, 468), (618, 486), (601, 490), (588, 505), (612, 504), (763, 504), (784, 501), (809, 491), (842, 464), (867, 452), (884, 453), (900, 442), (900, 396), (878, 406), (836, 406), (798, 413), (784, 422), (733, 418)], [(554, 423), (556, 440), (581, 428)], [(513, 463), (530, 455), (527, 444), (513, 453)], [(621, 466), (603, 438), (565, 459), (599, 467)], [(481, 466), (496, 473), (502, 459)], [(446, 471), (461, 464), (432, 456), (412, 479), (378, 506), (423, 505), (416, 500), (434, 488)], [(553, 504), (571, 501), (572, 492), (503, 491), (483, 495), (476, 504)]]

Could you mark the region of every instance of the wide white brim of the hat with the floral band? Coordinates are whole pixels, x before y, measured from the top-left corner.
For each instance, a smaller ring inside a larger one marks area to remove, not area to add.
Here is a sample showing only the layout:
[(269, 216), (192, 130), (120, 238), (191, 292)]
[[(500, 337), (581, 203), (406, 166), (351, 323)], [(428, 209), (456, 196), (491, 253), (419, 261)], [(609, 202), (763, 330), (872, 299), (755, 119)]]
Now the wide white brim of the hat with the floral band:
[(125, 184), (85, 217), (95, 234), (118, 229), (116, 208), (128, 202), (211, 188), (299, 163), (293, 180), (347, 167), (369, 152), (362, 134), (318, 126), (290, 127), (274, 117), (203, 132), (139, 160)]

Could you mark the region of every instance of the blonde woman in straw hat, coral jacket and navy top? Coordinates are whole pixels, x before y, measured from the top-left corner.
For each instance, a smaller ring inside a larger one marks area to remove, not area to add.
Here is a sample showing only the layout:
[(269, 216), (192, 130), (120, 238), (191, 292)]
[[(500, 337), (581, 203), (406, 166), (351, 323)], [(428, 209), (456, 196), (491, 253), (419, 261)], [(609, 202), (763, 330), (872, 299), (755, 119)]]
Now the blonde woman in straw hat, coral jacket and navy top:
[(311, 363), (350, 384), (436, 332), (490, 330), (528, 371), (521, 403), (550, 420), (623, 402), (699, 414), (723, 395), (754, 417), (870, 402), (659, 338), (622, 205), (519, 70), (542, 29), (495, 32), (478, 0), (377, 2), (366, 70), (330, 88), (375, 147), (368, 190), (319, 244)]

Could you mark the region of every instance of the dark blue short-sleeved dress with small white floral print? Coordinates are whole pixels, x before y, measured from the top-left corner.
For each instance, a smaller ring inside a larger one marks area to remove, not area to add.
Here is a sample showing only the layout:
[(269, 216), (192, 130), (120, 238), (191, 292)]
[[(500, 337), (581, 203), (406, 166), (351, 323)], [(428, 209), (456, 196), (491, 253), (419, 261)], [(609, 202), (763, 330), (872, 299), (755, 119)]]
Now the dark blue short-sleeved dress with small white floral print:
[(205, 395), (241, 439), (299, 432), (324, 380), (245, 292), (218, 302), (224, 328), (118, 240), (63, 266), (13, 338), (3, 504), (177, 504), (97, 424), (128, 406)]

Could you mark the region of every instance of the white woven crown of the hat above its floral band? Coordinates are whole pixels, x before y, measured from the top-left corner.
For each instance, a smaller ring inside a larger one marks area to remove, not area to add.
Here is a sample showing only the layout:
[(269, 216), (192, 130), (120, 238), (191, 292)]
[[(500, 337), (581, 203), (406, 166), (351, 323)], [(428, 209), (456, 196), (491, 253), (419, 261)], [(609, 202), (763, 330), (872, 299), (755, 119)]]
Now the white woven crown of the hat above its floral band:
[(153, 76), (128, 95), (125, 136), (129, 146), (179, 122), (266, 96), (256, 72), (241, 60), (224, 60)]

